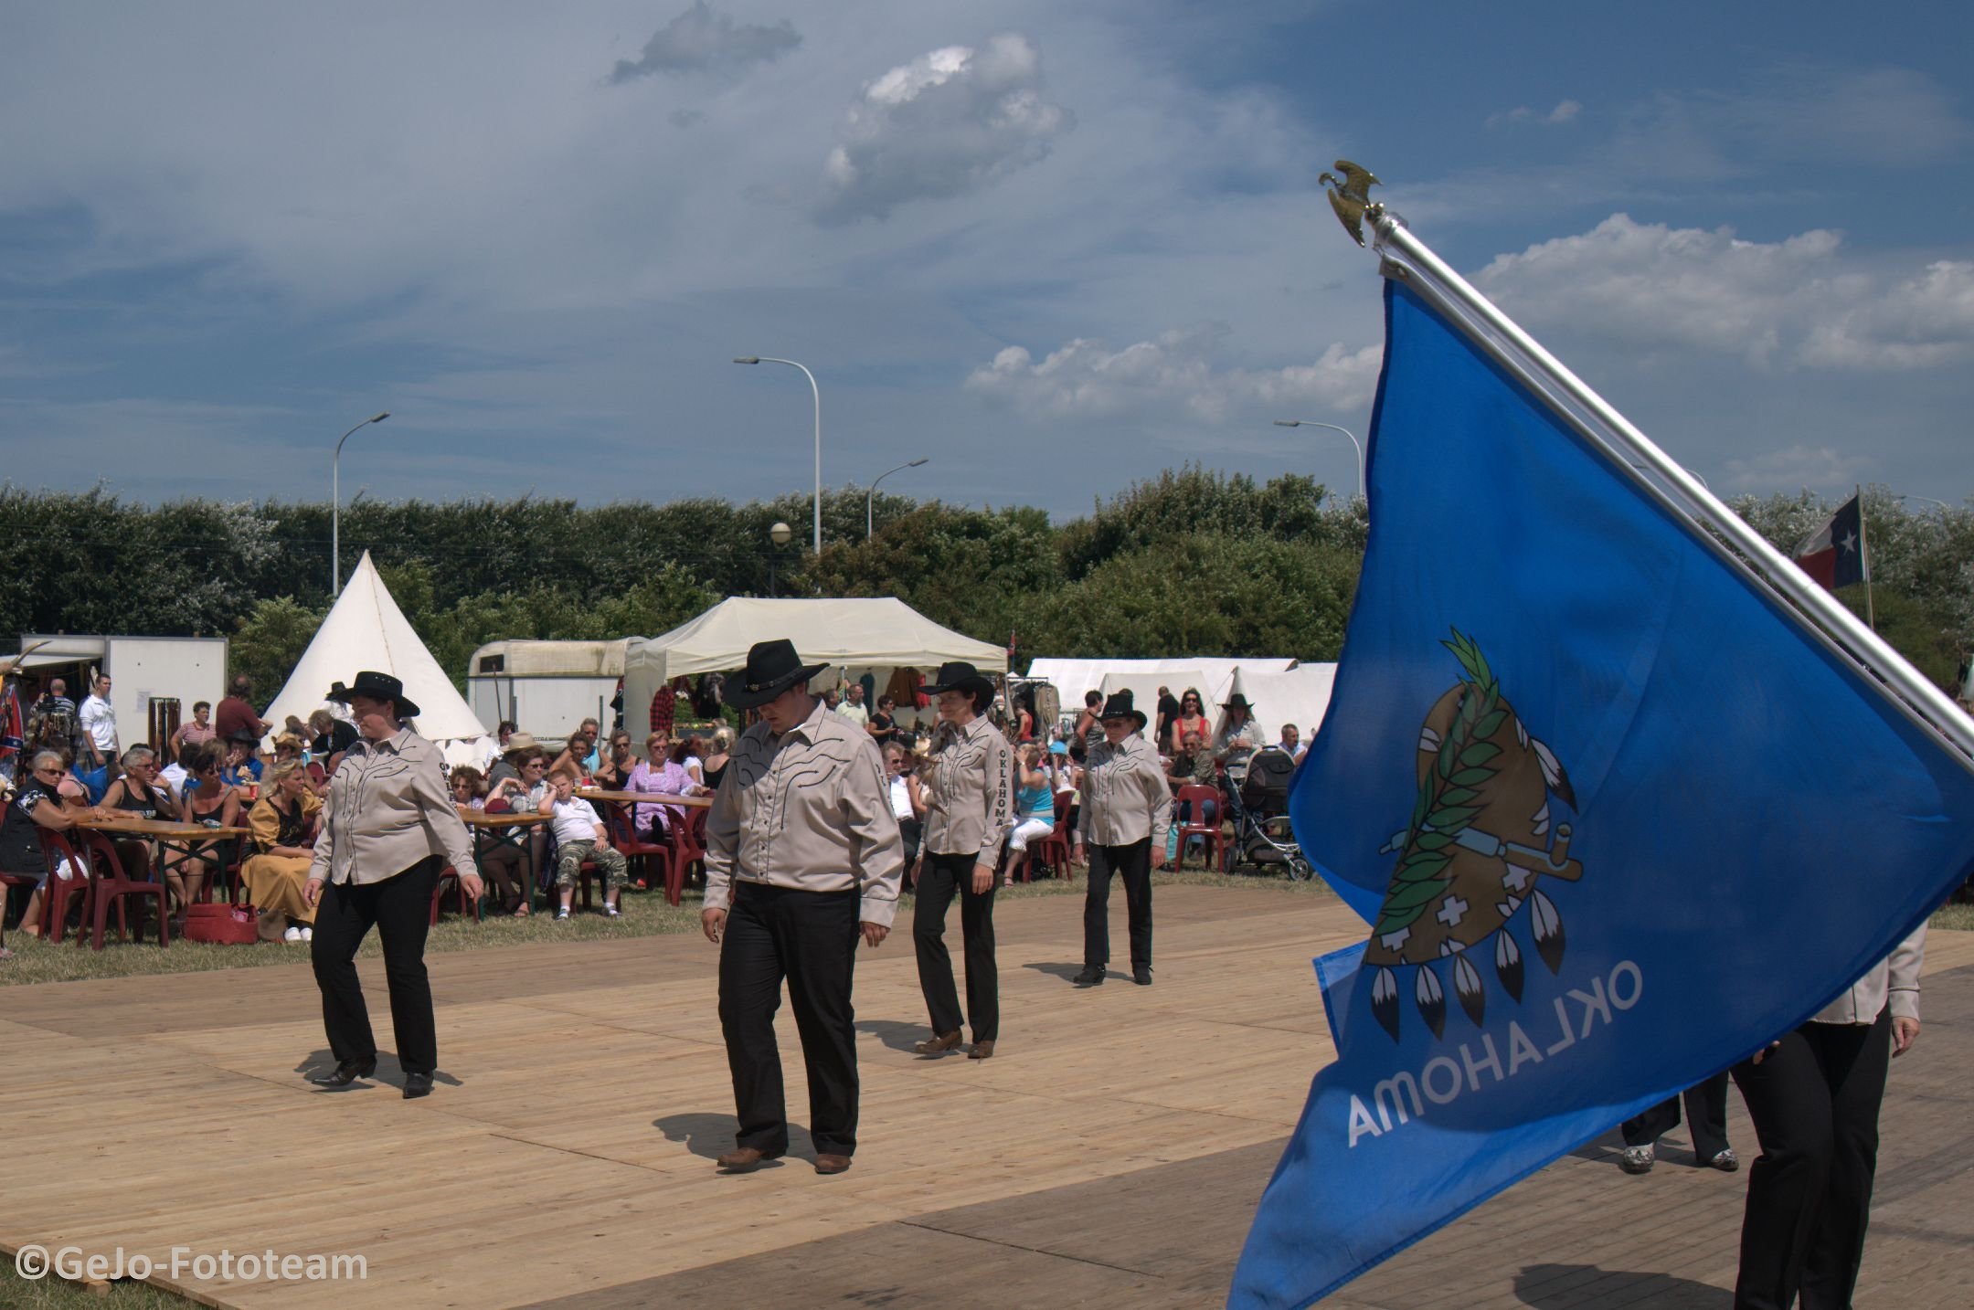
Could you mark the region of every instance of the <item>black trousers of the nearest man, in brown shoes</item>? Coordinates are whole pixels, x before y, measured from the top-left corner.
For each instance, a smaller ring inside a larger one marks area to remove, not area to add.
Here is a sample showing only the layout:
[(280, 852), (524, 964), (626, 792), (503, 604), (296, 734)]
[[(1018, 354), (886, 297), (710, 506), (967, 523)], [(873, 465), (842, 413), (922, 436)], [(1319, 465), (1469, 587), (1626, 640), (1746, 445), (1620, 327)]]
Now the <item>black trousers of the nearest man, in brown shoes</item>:
[[(318, 933), (320, 937), (320, 933)], [(809, 1136), (817, 1154), (857, 1152), (857, 892), (797, 892), (736, 882), (721, 937), (721, 1032), (734, 1075), (740, 1146), (788, 1150), (788, 1099), (774, 1012), (782, 979), (809, 1073)]]

